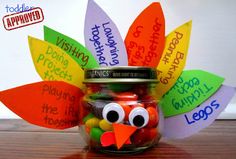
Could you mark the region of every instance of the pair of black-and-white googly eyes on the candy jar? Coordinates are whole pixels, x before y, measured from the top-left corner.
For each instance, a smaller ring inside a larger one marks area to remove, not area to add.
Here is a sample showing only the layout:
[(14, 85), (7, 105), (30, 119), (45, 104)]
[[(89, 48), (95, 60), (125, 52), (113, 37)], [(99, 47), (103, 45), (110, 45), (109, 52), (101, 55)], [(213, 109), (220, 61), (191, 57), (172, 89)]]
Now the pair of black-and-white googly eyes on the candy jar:
[[(102, 116), (109, 123), (121, 123), (125, 118), (125, 111), (118, 103), (109, 103), (105, 105)], [(136, 107), (129, 113), (129, 123), (137, 128), (142, 128), (149, 121), (148, 111), (143, 107)]]

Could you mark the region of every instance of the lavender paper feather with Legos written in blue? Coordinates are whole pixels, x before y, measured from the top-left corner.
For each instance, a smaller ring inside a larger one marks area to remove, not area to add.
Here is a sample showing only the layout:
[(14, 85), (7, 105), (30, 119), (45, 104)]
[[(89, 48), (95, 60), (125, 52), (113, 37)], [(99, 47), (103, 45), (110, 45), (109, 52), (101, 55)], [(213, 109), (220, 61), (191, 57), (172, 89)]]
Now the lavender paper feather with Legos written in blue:
[(208, 127), (225, 109), (235, 94), (235, 88), (221, 88), (207, 101), (189, 113), (165, 119), (163, 136), (185, 138)]

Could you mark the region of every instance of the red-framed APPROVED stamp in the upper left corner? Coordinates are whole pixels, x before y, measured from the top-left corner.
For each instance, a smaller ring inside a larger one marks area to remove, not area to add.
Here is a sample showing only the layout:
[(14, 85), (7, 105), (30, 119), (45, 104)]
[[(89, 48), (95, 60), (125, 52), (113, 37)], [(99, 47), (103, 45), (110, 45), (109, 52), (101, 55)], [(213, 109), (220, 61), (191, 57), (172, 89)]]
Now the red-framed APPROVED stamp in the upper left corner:
[(41, 8), (33, 8), (29, 11), (18, 12), (3, 17), (3, 25), (6, 30), (14, 30), (24, 26), (40, 23), (44, 20)]

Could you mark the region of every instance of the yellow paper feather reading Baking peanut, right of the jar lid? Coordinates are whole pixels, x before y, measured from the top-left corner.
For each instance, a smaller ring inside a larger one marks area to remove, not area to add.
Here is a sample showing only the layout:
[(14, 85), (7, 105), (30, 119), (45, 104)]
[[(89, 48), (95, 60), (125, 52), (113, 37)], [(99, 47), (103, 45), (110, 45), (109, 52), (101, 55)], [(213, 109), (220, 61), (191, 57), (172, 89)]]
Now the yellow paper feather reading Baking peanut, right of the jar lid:
[(172, 31), (166, 37), (165, 49), (157, 66), (157, 98), (160, 99), (181, 75), (188, 53), (192, 21)]

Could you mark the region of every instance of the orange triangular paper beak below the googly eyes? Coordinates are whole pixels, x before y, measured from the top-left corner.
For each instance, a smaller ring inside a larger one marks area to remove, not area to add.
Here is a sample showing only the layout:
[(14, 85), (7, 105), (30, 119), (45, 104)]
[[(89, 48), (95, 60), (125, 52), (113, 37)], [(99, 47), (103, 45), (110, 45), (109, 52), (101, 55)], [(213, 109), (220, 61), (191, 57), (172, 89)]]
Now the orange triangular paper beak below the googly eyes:
[(118, 150), (125, 144), (129, 137), (137, 130), (134, 126), (113, 123)]

